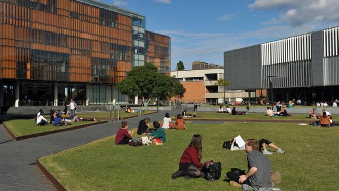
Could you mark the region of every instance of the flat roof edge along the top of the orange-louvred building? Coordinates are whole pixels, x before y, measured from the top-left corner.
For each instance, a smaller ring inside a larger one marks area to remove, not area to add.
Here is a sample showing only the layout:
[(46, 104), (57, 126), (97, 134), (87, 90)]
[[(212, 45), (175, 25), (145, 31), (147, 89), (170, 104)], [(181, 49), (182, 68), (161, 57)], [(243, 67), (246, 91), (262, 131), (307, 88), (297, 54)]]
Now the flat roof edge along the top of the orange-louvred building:
[(100, 7), (100, 8), (103, 8), (103, 9), (107, 9), (107, 10), (110, 10), (110, 11), (121, 13), (121, 14), (130, 16), (130, 17), (138, 17), (138, 18), (141, 18), (141, 19), (145, 19), (145, 16), (142, 16), (137, 12), (129, 11), (127, 9), (123, 9), (123, 8), (120, 8), (120, 7), (111, 5), (111, 4), (107, 4), (105, 2), (101, 2), (101, 1), (97, 1), (97, 0), (77, 0), (77, 1), (85, 3), (85, 4), (89, 4), (89, 5), (92, 5), (92, 6), (95, 6), (95, 7)]

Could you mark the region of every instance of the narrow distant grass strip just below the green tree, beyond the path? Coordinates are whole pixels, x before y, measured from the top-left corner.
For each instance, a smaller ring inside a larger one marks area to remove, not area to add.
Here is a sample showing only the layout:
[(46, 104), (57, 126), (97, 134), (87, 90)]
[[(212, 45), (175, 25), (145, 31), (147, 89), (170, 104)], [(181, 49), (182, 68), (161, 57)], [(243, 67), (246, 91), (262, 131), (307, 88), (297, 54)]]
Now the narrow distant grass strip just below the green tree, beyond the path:
[[(142, 112), (142, 115), (151, 113), (154, 111), (145, 110)], [(76, 112), (79, 117), (83, 118), (110, 118), (110, 112), (108, 111), (93, 111), (93, 112)], [(139, 113), (126, 113), (125, 111), (120, 111), (119, 117), (134, 117), (139, 116)], [(49, 118), (49, 115), (45, 115), (46, 118)], [(115, 113), (115, 117), (118, 117), (118, 112)], [(114, 111), (112, 110), (112, 118), (114, 118)]]

